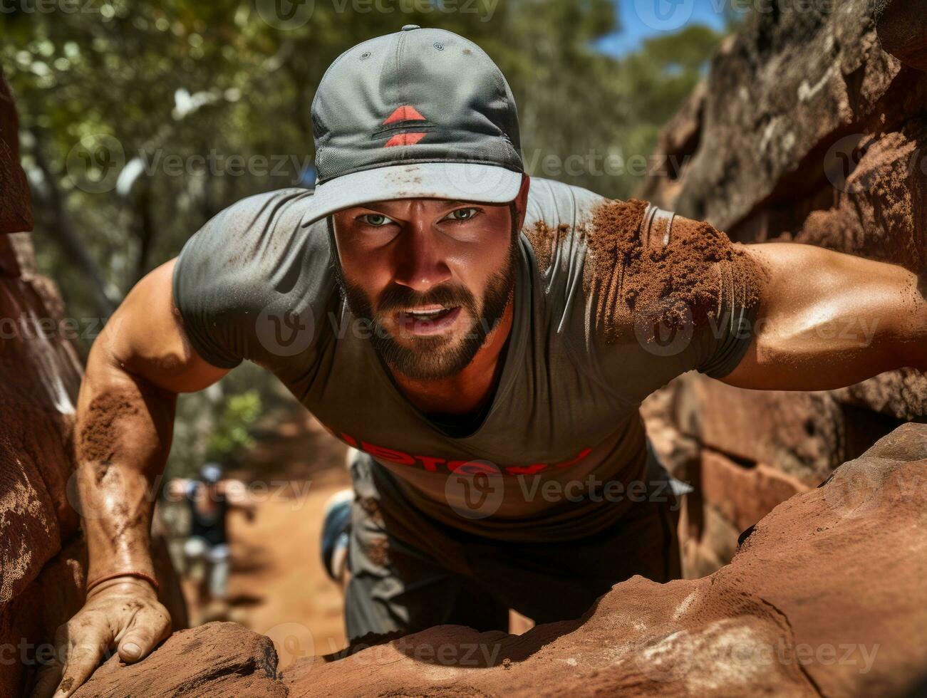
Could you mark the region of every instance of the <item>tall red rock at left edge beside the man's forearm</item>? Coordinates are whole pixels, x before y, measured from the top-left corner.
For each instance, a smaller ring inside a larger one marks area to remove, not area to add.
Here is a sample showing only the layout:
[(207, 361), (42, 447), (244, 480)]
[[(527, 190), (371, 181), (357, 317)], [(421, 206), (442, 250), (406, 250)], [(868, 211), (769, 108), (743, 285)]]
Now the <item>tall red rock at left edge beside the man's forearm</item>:
[(81, 367), (26, 278), (0, 277), (0, 608), (78, 527), (68, 441)]

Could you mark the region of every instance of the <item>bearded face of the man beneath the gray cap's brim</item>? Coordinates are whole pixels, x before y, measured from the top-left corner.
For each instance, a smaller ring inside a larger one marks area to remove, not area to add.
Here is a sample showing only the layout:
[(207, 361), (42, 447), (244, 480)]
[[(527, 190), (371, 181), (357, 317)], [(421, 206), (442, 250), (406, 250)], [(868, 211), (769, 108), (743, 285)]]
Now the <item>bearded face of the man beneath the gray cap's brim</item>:
[(334, 218), (342, 290), (387, 365), (417, 379), (460, 373), (512, 297), (511, 208), (417, 198)]

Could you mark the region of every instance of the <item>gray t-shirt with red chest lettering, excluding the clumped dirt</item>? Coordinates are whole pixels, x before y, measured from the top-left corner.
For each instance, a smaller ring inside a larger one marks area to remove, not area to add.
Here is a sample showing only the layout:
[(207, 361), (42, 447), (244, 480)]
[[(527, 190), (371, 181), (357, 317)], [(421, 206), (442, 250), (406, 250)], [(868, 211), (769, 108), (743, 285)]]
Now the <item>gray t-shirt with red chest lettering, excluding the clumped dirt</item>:
[[(641, 400), (692, 369), (730, 373), (749, 342), (738, 322), (750, 309), (736, 288), (720, 289), (712, 322), (681, 341), (649, 342), (633, 327), (606, 338), (603, 299), (589, 289), (609, 284), (584, 283), (586, 232), (605, 203), (531, 180), (502, 374), (464, 437), (416, 410), (375, 354), (338, 293), (330, 222), (303, 224), (309, 191), (248, 197), (208, 222), (177, 261), (174, 303), (206, 361), (272, 371), (425, 514), (496, 539), (576, 538), (616, 521), (632, 499), (619, 488), (644, 478)], [(655, 221), (659, 234), (646, 233), (660, 244), (671, 218)], [(539, 235), (539, 222), (554, 233)], [(619, 485), (603, 496), (609, 482)]]

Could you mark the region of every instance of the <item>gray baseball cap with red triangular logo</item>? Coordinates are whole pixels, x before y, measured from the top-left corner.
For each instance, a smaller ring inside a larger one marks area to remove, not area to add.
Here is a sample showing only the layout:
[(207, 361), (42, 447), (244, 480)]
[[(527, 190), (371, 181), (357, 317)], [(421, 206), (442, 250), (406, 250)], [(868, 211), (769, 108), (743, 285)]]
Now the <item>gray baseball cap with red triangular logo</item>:
[(318, 182), (304, 223), (398, 198), (508, 203), (525, 167), (502, 71), (452, 32), (407, 25), (332, 63), (312, 101)]

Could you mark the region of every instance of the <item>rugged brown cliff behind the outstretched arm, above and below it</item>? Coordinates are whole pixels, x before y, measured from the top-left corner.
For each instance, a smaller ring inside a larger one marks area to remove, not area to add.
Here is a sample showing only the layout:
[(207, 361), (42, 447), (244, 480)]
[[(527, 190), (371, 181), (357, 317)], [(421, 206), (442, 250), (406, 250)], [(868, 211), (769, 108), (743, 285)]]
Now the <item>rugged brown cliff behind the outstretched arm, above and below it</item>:
[[(741, 242), (790, 240), (927, 272), (927, 3), (778, 5), (723, 45), (662, 134), (665, 173), (641, 197)], [(697, 576), (726, 562), (738, 532), (765, 513), (753, 493), (770, 477), (782, 496), (813, 487), (927, 415), (927, 376), (796, 394), (687, 375), (648, 408), (658, 440), (690, 444), (670, 455), (696, 486), (686, 566)], [(717, 488), (732, 479), (742, 486)]]

